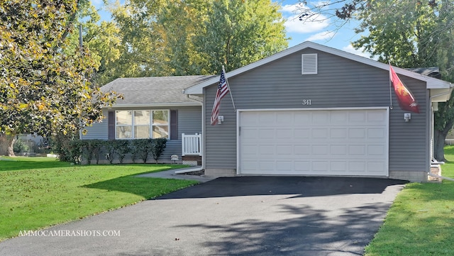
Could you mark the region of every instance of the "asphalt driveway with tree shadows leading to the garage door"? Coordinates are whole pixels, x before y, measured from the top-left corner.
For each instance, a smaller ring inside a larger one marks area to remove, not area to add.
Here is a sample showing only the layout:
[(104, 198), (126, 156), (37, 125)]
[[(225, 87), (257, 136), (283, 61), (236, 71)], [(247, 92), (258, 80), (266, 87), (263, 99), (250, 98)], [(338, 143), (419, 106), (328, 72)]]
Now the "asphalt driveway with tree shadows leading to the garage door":
[(218, 178), (6, 240), (0, 255), (362, 255), (404, 183)]

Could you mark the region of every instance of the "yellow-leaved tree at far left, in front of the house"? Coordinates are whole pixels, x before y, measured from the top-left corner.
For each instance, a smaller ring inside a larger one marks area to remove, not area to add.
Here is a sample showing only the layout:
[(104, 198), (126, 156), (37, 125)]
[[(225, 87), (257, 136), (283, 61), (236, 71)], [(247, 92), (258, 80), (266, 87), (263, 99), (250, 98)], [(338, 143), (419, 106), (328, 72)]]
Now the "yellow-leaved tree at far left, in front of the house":
[(9, 148), (20, 133), (74, 133), (100, 121), (101, 106), (116, 99), (90, 86), (96, 62), (87, 48), (66, 54), (77, 4), (1, 2), (0, 133), (8, 136)]

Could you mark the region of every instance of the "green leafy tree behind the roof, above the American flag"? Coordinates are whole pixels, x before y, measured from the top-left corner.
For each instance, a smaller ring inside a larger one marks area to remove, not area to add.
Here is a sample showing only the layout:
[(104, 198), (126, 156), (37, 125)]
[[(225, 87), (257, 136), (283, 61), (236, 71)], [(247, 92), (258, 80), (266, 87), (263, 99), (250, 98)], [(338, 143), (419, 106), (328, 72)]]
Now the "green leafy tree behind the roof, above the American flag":
[(288, 47), (279, 5), (270, 0), (210, 1), (194, 37), (207, 74), (237, 69)]

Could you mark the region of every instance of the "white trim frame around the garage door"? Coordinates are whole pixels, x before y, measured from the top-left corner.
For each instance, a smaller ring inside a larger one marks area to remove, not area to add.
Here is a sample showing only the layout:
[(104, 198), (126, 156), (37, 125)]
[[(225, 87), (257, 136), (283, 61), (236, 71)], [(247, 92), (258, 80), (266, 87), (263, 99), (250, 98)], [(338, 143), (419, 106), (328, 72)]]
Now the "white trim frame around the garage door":
[(387, 118), (384, 125), (386, 126), (387, 138), (385, 143), (385, 152), (388, 152), (385, 165), (387, 167), (385, 177), (389, 177), (389, 106), (378, 107), (349, 107), (349, 108), (252, 108), (237, 109), (236, 111), (236, 175), (240, 175), (240, 113), (256, 111), (343, 111), (343, 110), (386, 110)]

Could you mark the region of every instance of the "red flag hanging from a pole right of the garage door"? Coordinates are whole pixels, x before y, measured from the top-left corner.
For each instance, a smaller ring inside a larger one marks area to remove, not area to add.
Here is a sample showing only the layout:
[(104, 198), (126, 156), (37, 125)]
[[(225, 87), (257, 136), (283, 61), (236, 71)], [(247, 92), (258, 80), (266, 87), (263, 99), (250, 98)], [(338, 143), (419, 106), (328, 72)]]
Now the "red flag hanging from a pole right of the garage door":
[(394, 69), (389, 65), (389, 79), (391, 79), (392, 86), (394, 87), (394, 92), (397, 96), (397, 101), (399, 101), (399, 106), (402, 110), (412, 111), (419, 113), (419, 105), (414, 99), (411, 91), (406, 88), (405, 84), (397, 77)]

